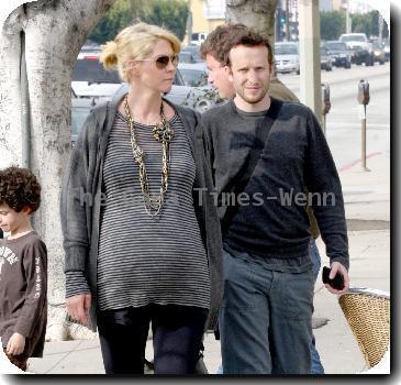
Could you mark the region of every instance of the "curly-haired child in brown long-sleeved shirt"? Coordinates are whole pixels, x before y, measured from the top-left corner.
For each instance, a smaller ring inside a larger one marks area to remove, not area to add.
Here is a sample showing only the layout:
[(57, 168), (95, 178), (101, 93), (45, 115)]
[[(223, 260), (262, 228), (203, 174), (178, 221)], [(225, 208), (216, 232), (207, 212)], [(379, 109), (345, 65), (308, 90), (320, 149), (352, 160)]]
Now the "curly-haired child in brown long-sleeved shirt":
[(26, 371), (43, 356), (47, 323), (47, 251), (31, 226), (41, 185), (29, 170), (0, 170), (0, 338), (12, 364)]

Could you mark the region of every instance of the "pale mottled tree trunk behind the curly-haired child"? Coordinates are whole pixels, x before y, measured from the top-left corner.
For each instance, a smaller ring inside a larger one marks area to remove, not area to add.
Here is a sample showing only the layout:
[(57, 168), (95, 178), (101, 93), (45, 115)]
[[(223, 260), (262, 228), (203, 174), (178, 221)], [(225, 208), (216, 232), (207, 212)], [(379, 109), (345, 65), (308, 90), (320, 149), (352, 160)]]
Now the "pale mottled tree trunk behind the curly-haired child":
[[(48, 250), (47, 337), (54, 340), (66, 339), (71, 331), (65, 322), (58, 213), (70, 147), (71, 73), (87, 35), (114, 1), (38, 0), (15, 9), (0, 26), (0, 167), (23, 163), (26, 132), (25, 143), (32, 148), (30, 168), (43, 189), (34, 226)], [(27, 85), (24, 91), (23, 79)], [(22, 112), (30, 118), (26, 127)]]

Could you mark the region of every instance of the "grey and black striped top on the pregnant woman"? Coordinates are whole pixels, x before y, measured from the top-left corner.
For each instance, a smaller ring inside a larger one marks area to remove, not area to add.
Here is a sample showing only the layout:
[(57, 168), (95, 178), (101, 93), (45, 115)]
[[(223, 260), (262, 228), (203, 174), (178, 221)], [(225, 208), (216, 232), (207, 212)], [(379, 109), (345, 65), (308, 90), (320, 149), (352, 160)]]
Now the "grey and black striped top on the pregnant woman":
[[(118, 112), (103, 166), (103, 205), (98, 258), (99, 308), (119, 309), (148, 304), (209, 308), (207, 254), (194, 215), (196, 166), (182, 122), (176, 114), (170, 144), (170, 173), (165, 202), (156, 218), (147, 215), (133, 160), (130, 131)], [(144, 150), (151, 193), (158, 193), (161, 143), (152, 127), (135, 123)], [(89, 292), (79, 272), (67, 273), (67, 297)]]

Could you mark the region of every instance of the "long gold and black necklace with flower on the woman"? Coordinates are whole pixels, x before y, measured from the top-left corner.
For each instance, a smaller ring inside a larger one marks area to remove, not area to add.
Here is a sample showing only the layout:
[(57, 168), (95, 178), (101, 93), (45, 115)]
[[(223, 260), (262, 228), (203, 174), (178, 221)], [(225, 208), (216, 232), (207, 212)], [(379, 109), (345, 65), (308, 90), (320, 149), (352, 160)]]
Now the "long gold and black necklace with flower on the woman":
[(165, 118), (163, 101), (161, 101), (160, 122), (157, 123), (152, 130), (153, 138), (156, 141), (161, 142), (163, 146), (161, 186), (158, 195), (152, 195), (149, 191), (149, 184), (147, 182), (146, 166), (143, 160), (144, 152), (140, 147), (135, 138), (135, 124), (130, 111), (129, 95), (125, 95), (124, 97), (124, 110), (131, 133), (132, 153), (134, 155), (135, 162), (140, 166), (141, 190), (144, 198), (145, 209), (151, 217), (156, 217), (161, 210), (165, 194), (168, 187), (168, 174), (169, 174), (169, 163), (170, 163), (169, 143), (174, 138), (174, 130), (171, 129), (170, 124), (167, 122)]

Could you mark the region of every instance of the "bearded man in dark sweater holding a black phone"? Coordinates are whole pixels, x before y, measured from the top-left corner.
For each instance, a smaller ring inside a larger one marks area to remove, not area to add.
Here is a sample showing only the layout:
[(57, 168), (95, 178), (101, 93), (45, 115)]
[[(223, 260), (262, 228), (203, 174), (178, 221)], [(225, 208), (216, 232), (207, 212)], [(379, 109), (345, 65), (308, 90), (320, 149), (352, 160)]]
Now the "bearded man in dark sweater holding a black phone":
[[(314, 209), (331, 278), (349, 287), (341, 183), (323, 132), (303, 105), (269, 96), (269, 42), (244, 30), (227, 44), (234, 99), (203, 114), (224, 244), (220, 332), (224, 374), (309, 374)], [(310, 193), (305, 193), (310, 191)]]

